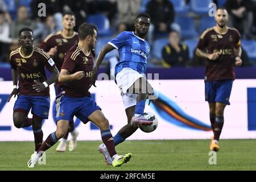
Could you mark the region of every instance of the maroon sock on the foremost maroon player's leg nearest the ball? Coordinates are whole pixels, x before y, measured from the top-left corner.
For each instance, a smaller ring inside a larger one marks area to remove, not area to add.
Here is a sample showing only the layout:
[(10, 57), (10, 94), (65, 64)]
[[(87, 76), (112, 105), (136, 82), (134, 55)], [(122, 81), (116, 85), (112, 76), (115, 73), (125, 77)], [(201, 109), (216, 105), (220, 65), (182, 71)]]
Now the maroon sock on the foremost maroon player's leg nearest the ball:
[(106, 148), (108, 149), (109, 155), (111, 157), (117, 154), (117, 152), (115, 151), (114, 139), (110, 130), (101, 131), (101, 139), (102, 142), (105, 144)]

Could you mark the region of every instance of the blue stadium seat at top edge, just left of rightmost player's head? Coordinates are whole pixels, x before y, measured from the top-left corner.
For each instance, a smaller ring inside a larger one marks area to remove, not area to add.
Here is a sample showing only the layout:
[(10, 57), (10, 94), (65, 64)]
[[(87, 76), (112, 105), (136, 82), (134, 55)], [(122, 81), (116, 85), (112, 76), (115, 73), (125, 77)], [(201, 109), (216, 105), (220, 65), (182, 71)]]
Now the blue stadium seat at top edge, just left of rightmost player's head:
[(190, 8), (196, 14), (208, 14), (209, 3), (212, 3), (212, 0), (190, 0)]

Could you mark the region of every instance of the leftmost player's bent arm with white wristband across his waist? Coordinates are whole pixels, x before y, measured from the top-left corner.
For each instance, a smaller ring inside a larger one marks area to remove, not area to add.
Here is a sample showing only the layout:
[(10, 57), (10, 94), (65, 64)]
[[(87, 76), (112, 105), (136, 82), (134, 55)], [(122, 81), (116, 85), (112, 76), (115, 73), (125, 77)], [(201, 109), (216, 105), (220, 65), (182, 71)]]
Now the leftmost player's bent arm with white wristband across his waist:
[(35, 89), (37, 92), (41, 92), (42, 90), (46, 89), (47, 86), (51, 85), (55, 81), (57, 81), (57, 78), (59, 76), (59, 70), (56, 68), (56, 66), (51, 69), (52, 75), (48, 78), (48, 80), (44, 82), (39, 82), (34, 80), (33, 89)]

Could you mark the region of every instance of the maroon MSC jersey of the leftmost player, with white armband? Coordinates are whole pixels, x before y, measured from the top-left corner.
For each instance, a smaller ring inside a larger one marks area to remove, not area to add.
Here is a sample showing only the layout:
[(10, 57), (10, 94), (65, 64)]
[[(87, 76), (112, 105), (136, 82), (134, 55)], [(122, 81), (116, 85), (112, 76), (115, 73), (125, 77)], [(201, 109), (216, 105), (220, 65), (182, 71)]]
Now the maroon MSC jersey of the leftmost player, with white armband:
[(32, 85), (34, 80), (44, 82), (47, 80), (45, 67), (52, 72), (55, 63), (52, 58), (38, 47), (34, 47), (31, 55), (23, 56), (21, 47), (10, 53), (12, 69), (18, 69), (19, 94), (26, 96), (49, 96), (49, 87), (42, 92), (37, 92)]

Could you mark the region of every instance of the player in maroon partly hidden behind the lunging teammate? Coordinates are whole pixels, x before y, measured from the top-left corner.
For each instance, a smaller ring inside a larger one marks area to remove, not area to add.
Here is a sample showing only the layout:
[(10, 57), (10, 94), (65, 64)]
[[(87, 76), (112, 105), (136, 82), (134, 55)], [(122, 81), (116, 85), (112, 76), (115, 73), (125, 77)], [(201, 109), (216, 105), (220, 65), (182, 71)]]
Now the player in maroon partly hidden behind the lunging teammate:
[[(74, 27), (76, 26), (76, 18), (75, 14), (72, 12), (67, 12), (63, 14), (63, 30), (55, 32), (49, 35), (44, 42), (41, 44), (40, 48), (48, 53), (53, 60), (55, 61), (57, 69), (61, 70), (61, 66), (64, 62), (64, 56), (68, 52), (68, 50), (74, 45), (79, 42), (78, 33), (73, 31)], [(60, 82), (55, 82), (55, 94), (56, 96), (59, 93)], [(53, 109), (56, 107), (56, 102), (53, 105)], [(54, 111), (53, 111), (54, 113)], [(64, 152), (67, 148), (67, 139), (68, 134), (71, 133), (72, 139), (69, 141), (68, 149), (69, 151), (75, 150), (77, 146), (77, 135), (79, 132), (75, 129), (75, 125), (73, 122), (73, 118), (69, 121), (69, 130), (67, 135), (60, 140), (59, 145), (56, 148), (56, 151)]]

